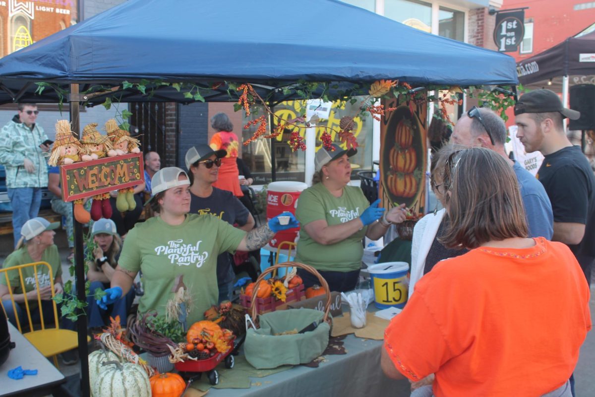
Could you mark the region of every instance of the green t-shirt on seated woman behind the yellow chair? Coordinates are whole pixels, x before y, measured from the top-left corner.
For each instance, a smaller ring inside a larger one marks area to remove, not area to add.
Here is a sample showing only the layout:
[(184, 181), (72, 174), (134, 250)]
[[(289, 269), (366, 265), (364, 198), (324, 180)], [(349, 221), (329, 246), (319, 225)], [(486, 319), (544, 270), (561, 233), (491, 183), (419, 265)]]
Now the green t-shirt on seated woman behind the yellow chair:
[[(4, 265), (2, 268), (10, 268), (13, 266), (24, 265), (27, 263), (35, 262), (31, 255), (29, 255), (29, 251), (27, 251), (27, 246), (23, 246), (17, 251), (12, 252), (12, 254), (8, 255), (6, 260), (4, 261)], [(60, 262), (60, 254), (58, 254), (58, 247), (54, 244), (49, 246), (48, 248), (43, 251), (41, 256), (41, 262), (48, 262), (50, 267), (52, 268), (52, 276), (54, 280), (56, 277), (62, 276), (62, 266)], [(25, 292), (29, 292), (35, 289), (35, 271), (33, 271), (33, 267), (26, 267), (21, 269), (21, 273), (23, 273), (23, 282), (25, 284)], [(12, 270), (8, 272), (8, 279), (10, 280), (10, 286), (14, 287), (14, 293), (23, 293), (23, 288), (21, 287), (20, 277), (18, 276), (18, 270)], [(39, 287), (43, 288), (49, 286), (49, 271), (45, 265), (37, 266), (37, 280), (39, 281)], [(6, 276), (2, 274), (0, 276), (0, 283), (7, 285)], [(37, 302), (30, 300), (29, 305), (35, 304)]]

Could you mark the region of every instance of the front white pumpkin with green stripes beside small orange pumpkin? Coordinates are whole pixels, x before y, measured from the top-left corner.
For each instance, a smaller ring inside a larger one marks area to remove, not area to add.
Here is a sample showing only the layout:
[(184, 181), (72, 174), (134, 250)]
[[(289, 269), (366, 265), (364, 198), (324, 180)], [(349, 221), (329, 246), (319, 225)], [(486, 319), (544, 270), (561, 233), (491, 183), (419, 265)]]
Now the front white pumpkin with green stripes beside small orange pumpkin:
[(102, 364), (93, 383), (93, 397), (151, 397), (151, 383), (143, 367), (131, 362)]

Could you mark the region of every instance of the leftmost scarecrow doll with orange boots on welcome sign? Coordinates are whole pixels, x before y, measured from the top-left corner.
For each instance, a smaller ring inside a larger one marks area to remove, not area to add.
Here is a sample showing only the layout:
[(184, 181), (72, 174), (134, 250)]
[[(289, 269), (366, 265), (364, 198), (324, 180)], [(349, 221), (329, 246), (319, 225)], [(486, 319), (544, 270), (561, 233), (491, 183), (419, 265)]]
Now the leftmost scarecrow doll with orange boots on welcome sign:
[[(82, 160), (80, 155), (83, 153), (83, 147), (70, 129), (70, 121), (58, 120), (58, 123), (56, 123), (56, 140), (48, 164), (52, 165), (52, 167), (73, 164), (73, 162)], [(89, 223), (91, 219), (91, 215), (83, 207), (82, 199), (74, 201), (73, 214), (79, 223)]]

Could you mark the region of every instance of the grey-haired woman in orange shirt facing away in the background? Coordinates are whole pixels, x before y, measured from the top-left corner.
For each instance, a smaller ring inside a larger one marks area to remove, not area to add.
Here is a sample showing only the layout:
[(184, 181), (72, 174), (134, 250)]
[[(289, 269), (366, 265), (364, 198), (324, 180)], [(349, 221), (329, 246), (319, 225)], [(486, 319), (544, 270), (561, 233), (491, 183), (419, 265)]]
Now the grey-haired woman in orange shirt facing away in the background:
[(221, 167), (219, 167), (219, 177), (213, 186), (218, 189), (228, 190), (234, 196), (242, 197), (242, 189), (240, 188), (239, 171), (237, 169), (236, 158), (240, 142), (237, 135), (232, 132), (233, 124), (227, 114), (219, 112), (211, 117), (211, 127), (217, 133), (211, 138), (211, 149), (218, 151), (223, 149), (227, 151), (226, 157), (221, 159)]

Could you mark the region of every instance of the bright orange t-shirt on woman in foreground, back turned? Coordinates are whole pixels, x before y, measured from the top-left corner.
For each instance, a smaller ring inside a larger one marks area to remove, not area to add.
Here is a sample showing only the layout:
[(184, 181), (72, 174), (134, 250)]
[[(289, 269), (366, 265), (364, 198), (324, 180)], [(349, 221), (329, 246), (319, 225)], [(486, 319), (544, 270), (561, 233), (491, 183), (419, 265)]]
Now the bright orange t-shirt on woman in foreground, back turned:
[(540, 396), (568, 380), (591, 329), (589, 288), (566, 245), (481, 247), (415, 285), (384, 347), (411, 380), (443, 396)]

